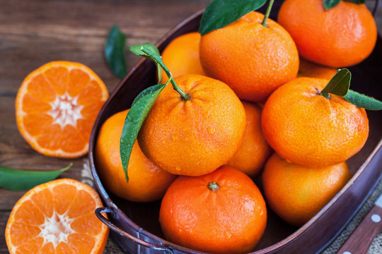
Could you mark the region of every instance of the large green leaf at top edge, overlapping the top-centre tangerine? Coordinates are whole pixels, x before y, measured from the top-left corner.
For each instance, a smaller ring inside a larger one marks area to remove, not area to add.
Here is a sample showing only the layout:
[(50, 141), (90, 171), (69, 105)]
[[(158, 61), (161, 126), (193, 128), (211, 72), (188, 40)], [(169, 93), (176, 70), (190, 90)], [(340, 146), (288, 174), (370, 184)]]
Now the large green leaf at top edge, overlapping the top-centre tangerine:
[(214, 0), (207, 6), (200, 20), (199, 33), (205, 35), (224, 28), (250, 11), (255, 11), (266, 0)]

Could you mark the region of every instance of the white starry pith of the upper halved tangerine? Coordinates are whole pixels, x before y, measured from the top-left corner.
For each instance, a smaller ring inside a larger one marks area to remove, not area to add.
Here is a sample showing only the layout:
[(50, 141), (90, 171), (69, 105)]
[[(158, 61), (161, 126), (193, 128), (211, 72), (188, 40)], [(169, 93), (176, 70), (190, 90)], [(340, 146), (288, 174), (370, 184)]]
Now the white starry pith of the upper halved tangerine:
[(83, 118), (81, 114), (83, 106), (77, 104), (77, 99), (78, 97), (70, 97), (66, 93), (50, 102), (52, 109), (47, 114), (53, 117), (53, 123), (58, 123), (61, 128), (67, 124), (76, 126), (76, 121)]

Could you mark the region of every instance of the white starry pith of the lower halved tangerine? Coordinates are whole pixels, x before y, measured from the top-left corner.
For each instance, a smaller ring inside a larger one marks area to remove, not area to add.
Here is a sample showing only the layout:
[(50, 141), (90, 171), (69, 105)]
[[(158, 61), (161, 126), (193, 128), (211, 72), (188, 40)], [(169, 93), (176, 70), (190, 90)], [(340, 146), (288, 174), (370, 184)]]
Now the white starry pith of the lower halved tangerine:
[(44, 243), (52, 243), (54, 248), (61, 242), (67, 243), (68, 236), (75, 231), (71, 229), (71, 222), (74, 219), (70, 219), (66, 213), (57, 214), (53, 212), (52, 217), (45, 217), (45, 222), (39, 226), (39, 236), (44, 238)]

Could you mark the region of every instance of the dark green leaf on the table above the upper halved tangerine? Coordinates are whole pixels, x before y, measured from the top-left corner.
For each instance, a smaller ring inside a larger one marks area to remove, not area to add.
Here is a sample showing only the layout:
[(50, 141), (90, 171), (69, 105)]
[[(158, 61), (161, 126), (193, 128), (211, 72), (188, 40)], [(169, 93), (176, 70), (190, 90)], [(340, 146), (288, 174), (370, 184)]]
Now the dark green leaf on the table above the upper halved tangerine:
[(125, 35), (117, 25), (113, 25), (105, 45), (105, 58), (112, 72), (119, 78), (124, 78), (127, 75), (125, 47)]

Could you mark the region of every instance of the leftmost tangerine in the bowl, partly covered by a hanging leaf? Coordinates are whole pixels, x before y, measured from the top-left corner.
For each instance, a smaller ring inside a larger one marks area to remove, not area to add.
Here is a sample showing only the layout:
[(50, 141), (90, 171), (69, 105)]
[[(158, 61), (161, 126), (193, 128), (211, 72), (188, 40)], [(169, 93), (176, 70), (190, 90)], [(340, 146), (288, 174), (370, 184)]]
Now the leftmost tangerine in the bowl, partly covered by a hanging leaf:
[(97, 172), (106, 188), (120, 198), (135, 202), (151, 202), (163, 197), (175, 175), (160, 169), (144, 156), (135, 142), (125, 179), (120, 157), (120, 137), (129, 110), (110, 116), (100, 128), (96, 143)]

